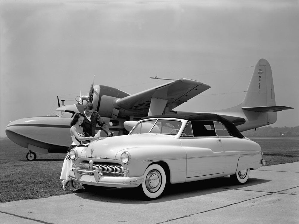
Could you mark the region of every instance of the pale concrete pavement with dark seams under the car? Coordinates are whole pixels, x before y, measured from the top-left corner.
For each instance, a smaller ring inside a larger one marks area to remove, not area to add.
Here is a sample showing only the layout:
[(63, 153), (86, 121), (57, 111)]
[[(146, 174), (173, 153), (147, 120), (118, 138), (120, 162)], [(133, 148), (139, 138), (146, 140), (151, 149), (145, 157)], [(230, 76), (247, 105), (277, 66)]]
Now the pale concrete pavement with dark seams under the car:
[(0, 223), (299, 223), (299, 162), (250, 171), (244, 185), (229, 177), (168, 185), (143, 201), (135, 188), (110, 188), (0, 203)]

